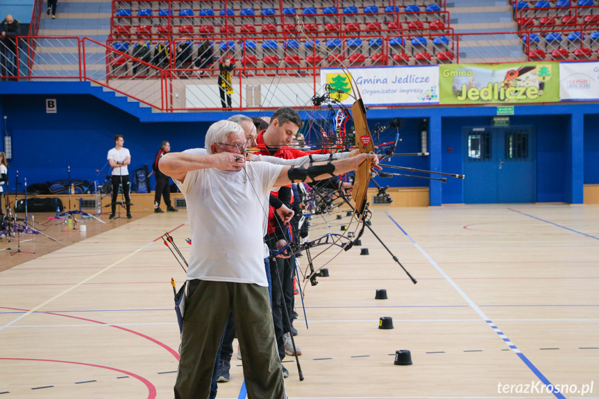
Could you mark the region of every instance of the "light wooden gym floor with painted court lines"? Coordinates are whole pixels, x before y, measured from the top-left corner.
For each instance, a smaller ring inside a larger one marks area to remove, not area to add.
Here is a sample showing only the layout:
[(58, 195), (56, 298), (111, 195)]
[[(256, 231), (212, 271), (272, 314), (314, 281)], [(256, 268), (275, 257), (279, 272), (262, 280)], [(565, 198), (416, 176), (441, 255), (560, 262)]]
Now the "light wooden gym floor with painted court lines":
[[(172, 398), (169, 280), (184, 274), (159, 237), (189, 255), (186, 217), (149, 214), (2, 271), (0, 398)], [(307, 287), (309, 330), (296, 296), (305, 380), (286, 357), (290, 398), (599, 398), (598, 206), (380, 206), (372, 228), (419, 282), (366, 230)], [(414, 364), (394, 365), (396, 350)], [(240, 364), (218, 398), (239, 397)], [(539, 393), (539, 380), (587, 391)]]

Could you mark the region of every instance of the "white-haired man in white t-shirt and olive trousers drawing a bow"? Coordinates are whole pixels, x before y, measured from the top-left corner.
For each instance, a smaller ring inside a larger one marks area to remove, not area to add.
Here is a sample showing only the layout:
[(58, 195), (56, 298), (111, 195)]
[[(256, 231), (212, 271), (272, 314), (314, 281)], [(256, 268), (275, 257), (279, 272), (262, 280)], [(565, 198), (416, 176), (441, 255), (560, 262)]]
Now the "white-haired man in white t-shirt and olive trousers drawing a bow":
[(192, 230), (175, 398), (208, 398), (229, 310), (244, 353), (248, 398), (287, 398), (264, 273), (267, 196), (273, 186), (321, 180), (376, 158), (360, 154), (307, 168), (246, 163), (245, 144), (241, 126), (218, 121), (206, 133), (207, 155), (190, 151), (160, 159), (160, 169), (185, 195)]

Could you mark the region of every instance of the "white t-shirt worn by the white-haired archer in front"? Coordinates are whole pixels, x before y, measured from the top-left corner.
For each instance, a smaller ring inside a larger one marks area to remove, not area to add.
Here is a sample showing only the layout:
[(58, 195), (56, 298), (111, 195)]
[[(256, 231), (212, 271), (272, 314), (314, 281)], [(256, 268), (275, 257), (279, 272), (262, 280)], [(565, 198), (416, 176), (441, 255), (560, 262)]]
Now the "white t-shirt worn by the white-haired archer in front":
[[(205, 154), (196, 148), (185, 153)], [(267, 196), (282, 166), (248, 162), (241, 171), (200, 169), (175, 180), (192, 229), (187, 280), (245, 282), (268, 287), (264, 273)]]

